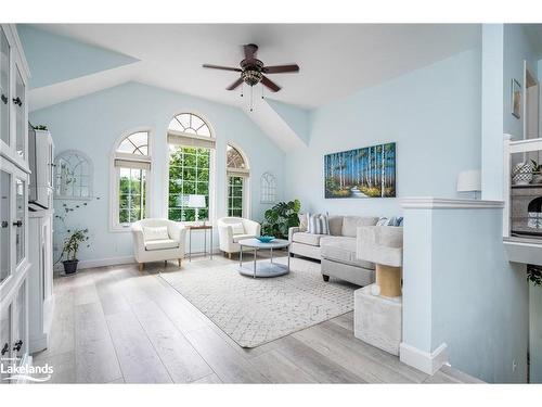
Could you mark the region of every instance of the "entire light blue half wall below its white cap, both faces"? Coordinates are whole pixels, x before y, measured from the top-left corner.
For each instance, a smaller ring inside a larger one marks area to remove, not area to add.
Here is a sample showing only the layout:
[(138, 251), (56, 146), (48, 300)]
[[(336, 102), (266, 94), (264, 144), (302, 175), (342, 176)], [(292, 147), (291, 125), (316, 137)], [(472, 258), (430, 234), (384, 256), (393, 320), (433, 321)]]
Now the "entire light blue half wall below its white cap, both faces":
[(504, 255), (502, 209), (404, 215), (403, 342), (446, 344), (452, 367), (488, 382), (525, 382), (528, 290)]

